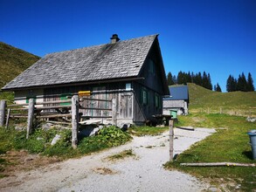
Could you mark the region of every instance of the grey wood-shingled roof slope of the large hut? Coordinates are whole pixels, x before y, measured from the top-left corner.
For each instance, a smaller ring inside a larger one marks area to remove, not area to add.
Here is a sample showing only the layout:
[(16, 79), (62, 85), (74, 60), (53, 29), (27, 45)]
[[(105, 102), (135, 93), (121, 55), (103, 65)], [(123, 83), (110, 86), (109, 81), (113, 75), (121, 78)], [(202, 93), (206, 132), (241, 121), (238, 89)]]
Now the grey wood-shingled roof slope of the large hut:
[(138, 77), (157, 35), (46, 55), (3, 90)]

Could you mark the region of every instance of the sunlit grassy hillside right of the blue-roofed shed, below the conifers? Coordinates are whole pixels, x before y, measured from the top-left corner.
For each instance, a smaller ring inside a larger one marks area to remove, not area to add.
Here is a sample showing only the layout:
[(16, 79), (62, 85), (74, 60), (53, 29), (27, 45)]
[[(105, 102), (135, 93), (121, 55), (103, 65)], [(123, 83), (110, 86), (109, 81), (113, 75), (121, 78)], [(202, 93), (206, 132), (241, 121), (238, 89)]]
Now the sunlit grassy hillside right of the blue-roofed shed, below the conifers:
[(256, 111), (256, 92), (218, 93), (202, 86), (188, 84), (190, 94), (190, 110), (246, 110)]

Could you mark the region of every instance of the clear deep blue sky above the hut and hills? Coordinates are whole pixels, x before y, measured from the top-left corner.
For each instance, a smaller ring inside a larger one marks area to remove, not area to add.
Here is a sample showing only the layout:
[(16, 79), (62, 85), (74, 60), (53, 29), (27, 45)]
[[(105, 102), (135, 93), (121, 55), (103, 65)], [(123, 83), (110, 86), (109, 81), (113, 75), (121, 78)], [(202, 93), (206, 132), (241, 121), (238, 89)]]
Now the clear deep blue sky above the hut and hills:
[(256, 82), (255, 0), (0, 0), (0, 41), (40, 57), (159, 34), (165, 72), (248, 72)]

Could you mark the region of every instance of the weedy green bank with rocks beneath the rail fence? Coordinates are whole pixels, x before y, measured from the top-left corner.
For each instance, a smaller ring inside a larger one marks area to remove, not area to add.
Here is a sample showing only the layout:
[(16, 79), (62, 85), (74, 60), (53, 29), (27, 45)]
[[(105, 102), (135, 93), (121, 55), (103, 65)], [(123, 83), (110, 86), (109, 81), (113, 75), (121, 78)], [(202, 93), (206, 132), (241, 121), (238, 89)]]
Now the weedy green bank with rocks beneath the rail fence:
[[(60, 134), (61, 140), (54, 146), (51, 141), (56, 134)], [(132, 137), (122, 132), (117, 127), (104, 127), (100, 129), (98, 135), (80, 139), (77, 149), (71, 146), (72, 133), (70, 129), (58, 130), (52, 128), (45, 131), (38, 128), (30, 138), (26, 140), (25, 131), (16, 131), (13, 128), (6, 130), (0, 127), (0, 154), (5, 154), (10, 150), (26, 149), (31, 154), (41, 154), (47, 156), (58, 156), (60, 159), (80, 157), (105, 148), (115, 147), (130, 141)], [(127, 154), (128, 155), (128, 154)], [(9, 162), (0, 158), (0, 178), (3, 177), (3, 170)]]

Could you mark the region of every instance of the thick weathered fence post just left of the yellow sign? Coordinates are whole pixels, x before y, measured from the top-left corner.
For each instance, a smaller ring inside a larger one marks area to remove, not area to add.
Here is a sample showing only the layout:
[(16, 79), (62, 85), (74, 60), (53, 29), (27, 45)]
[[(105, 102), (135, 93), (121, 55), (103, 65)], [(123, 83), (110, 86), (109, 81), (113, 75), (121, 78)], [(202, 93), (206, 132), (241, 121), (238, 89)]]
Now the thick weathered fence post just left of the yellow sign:
[(73, 95), (72, 99), (72, 147), (77, 148), (78, 144), (78, 125), (79, 125), (79, 96)]

